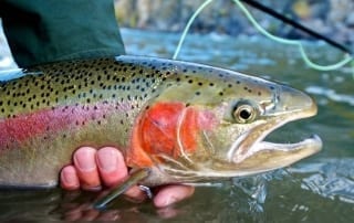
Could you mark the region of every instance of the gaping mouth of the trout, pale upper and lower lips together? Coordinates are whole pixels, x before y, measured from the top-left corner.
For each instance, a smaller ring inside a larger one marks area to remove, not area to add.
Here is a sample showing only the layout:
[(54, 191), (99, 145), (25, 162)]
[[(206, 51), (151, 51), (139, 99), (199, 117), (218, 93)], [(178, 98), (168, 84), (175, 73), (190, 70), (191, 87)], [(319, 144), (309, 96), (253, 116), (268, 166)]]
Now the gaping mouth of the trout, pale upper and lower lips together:
[(303, 107), (298, 110), (277, 114), (277, 118), (275, 116), (269, 118), (266, 124), (241, 135), (228, 152), (229, 162), (238, 166), (237, 169), (242, 170), (243, 174), (251, 174), (283, 168), (319, 152), (322, 148), (322, 140), (316, 135), (294, 144), (275, 144), (263, 140), (273, 130), (290, 121), (316, 115), (317, 107), (313, 99), (305, 95), (301, 95), (301, 99), (304, 102)]

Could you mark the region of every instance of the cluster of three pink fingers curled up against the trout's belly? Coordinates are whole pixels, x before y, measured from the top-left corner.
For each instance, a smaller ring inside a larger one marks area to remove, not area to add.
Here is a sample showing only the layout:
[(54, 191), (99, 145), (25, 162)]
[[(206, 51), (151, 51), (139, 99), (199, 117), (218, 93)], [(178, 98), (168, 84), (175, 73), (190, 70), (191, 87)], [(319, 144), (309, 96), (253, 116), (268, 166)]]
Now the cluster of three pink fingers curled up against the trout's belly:
[[(103, 187), (114, 187), (128, 177), (128, 170), (122, 152), (114, 147), (94, 149), (82, 147), (74, 152), (74, 163), (61, 171), (61, 187), (65, 190), (96, 191)], [(138, 187), (133, 187), (125, 194), (135, 201), (146, 197)]]

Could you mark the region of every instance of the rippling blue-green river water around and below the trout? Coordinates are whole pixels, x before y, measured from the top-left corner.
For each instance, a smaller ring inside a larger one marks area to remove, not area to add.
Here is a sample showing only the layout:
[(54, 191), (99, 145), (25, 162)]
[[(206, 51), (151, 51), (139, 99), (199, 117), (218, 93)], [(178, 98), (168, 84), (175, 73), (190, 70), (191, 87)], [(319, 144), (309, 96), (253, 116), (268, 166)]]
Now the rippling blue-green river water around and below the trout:
[[(171, 57), (179, 34), (122, 30), (128, 54)], [(306, 43), (312, 60), (334, 63), (340, 52)], [(156, 210), (119, 198), (103, 212), (87, 211), (96, 194), (60, 189), (0, 191), (0, 221), (101, 220), (122, 222), (354, 222), (354, 75), (309, 68), (293, 46), (263, 38), (188, 35), (180, 60), (207, 63), (285, 83), (308, 92), (319, 115), (282, 127), (272, 141), (294, 142), (317, 134), (323, 150), (292, 167), (270, 173), (197, 188), (175, 206)]]

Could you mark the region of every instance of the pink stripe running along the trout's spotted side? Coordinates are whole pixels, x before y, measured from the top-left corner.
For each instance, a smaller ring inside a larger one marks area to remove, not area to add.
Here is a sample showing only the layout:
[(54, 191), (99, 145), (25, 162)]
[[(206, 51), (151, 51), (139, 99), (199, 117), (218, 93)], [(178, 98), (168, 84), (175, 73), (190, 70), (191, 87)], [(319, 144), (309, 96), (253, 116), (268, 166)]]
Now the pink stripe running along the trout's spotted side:
[(22, 114), (14, 118), (0, 119), (0, 150), (12, 142), (21, 144), (31, 137), (55, 134), (71, 126), (83, 125), (90, 120), (102, 119), (104, 115), (126, 112), (126, 104), (97, 103), (94, 105), (60, 106), (53, 109), (41, 109)]

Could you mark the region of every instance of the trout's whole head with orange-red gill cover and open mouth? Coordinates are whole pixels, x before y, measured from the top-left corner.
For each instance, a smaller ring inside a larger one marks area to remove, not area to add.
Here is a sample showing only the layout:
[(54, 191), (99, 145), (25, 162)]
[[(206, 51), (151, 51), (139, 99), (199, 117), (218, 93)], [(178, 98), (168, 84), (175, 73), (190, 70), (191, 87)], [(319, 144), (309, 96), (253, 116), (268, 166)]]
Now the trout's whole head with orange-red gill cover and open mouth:
[[(289, 86), (233, 71), (183, 64), (139, 120), (139, 146), (156, 171), (176, 182), (250, 176), (321, 150), (317, 136), (296, 144), (263, 139), (314, 116), (314, 100)], [(170, 72), (171, 73), (171, 72)]]

